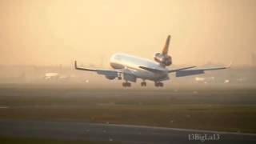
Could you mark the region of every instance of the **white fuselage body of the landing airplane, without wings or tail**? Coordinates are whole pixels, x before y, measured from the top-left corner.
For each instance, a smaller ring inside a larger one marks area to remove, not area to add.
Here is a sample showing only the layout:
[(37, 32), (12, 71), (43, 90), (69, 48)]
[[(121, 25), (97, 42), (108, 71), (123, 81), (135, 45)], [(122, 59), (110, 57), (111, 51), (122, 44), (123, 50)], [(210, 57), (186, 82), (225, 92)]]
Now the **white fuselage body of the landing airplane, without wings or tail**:
[[(130, 70), (130, 72), (137, 78), (142, 78), (143, 80), (164, 81), (169, 79), (168, 70), (159, 63), (129, 54), (113, 54), (110, 58), (110, 66), (114, 69)], [(155, 70), (161, 70), (162, 72), (156, 73), (149, 70), (143, 70), (139, 66), (150, 67)]]

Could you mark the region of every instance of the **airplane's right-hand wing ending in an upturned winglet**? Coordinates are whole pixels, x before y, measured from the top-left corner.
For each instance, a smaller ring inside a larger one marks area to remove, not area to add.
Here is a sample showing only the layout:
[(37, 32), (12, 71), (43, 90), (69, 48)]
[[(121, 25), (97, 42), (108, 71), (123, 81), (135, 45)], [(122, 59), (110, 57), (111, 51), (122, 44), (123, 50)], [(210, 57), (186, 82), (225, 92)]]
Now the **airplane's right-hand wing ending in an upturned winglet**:
[(185, 77), (195, 74), (204, 74), (207, 70), (223, 70), (230, 68), (231, 63), (229, 66), (224, 67), (214, 67), (214, 68), (206, 68), (206, 69), (194, 69), (194, 70), (178, 70), (176, 71), (176, 77)]

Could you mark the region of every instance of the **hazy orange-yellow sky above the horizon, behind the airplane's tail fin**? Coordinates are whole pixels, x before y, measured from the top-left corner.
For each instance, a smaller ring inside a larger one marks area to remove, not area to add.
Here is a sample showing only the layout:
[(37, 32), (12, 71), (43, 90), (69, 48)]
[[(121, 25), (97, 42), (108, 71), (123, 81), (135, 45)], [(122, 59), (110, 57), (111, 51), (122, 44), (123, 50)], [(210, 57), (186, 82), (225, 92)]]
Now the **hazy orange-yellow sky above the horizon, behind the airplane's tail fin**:
[(174, 64), (250, 65), (255, 0), (1, 0), (0, 65), (108, 65), (151, 58), (172, 35)]

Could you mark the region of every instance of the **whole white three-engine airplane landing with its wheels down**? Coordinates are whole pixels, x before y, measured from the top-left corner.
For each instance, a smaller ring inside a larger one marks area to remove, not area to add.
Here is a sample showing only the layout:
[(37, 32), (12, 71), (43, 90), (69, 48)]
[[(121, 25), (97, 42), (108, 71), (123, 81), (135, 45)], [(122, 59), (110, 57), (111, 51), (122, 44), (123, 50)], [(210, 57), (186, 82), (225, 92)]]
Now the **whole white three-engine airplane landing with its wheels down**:
[(175, 73), (176, 77), (185, 77), (195, 74), (204, 74), (207, 70), (222, 70), (231, 66), (206, 68), (206, 69), (192, 69), (196, 66), (183, 67), (176, 70), (170, 70), (166, 66), (172, 64), (172, 58), (168, 55), (170, 44), (170, 35), (166, 39), (165, 46), (162, 53), (154, 54), (154, 61), (139, 58), (130, 54), (113, 54), (110, 58), (110, 66), (114, 70), (91, 69), (85, 67), (78, 67), (77, 61), (74, 61), (75, 70), (86, 70), (96, 72), (97, 74), (105, 75), (106, 78), (114, 80), (124, 80), (122, 86), (130, 87), (130, 82), (137, 82), (138, 78), (142, 79), (141, 86), (146, 86), (146, 80), (153, 81), (154, 86), (162, 87), (163, 81), (169, 80), (169, 74)]

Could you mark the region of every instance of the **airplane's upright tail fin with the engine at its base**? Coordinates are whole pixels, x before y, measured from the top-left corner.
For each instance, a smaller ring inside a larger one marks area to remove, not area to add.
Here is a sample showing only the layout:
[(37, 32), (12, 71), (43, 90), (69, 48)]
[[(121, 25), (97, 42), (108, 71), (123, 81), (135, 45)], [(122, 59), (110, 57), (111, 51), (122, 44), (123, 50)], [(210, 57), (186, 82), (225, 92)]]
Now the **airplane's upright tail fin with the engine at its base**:
[(168, 49), (170, 44), (170, 35), (166, 39), (166, 45), (162, 49), (162, 53), (154, 54), (154, 61), (159, 62), (162, 66), (170, 66), (172, 64), (172, 58), (168, 55)]

